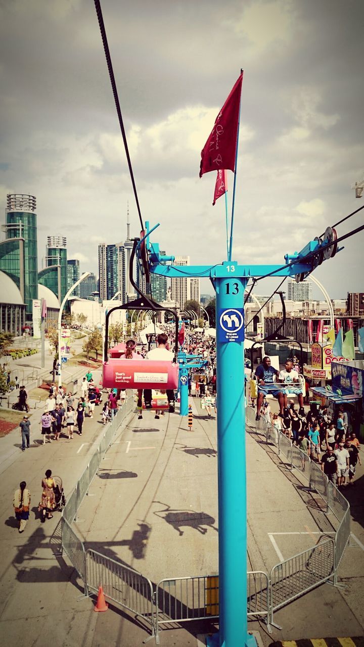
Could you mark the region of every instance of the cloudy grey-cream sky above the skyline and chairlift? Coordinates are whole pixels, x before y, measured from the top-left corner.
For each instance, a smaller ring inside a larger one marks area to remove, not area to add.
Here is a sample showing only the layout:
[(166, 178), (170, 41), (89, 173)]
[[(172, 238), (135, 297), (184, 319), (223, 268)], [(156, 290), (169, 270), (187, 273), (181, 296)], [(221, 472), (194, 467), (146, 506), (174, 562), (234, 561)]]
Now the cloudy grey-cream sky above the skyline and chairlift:
[[(216, 173), (201, 149), (244, 69), (233, 260), (284, 264), (364, 204), (361, 0), (101, 0), (143, 221), (191, 264), (226, 259)], [(47, 236), (98, 272), (98, 244), (140, 225), (92, 0), (0, 0), (0, 204), (37, 199)], [(233, 173), (229, 171), (231, 210)], [(359, 212), (338, 236), (363, 224)], [(364, 232), (314, 276), (331, 298), (364, 291)], [(273, 292), (279, 278), (260, 281)], [(284, 289), (284, 285), (282, 287)], [(207, 280), (201, 292), (212, 293)], [(313, 291), (315, 298), (319, 292)]]

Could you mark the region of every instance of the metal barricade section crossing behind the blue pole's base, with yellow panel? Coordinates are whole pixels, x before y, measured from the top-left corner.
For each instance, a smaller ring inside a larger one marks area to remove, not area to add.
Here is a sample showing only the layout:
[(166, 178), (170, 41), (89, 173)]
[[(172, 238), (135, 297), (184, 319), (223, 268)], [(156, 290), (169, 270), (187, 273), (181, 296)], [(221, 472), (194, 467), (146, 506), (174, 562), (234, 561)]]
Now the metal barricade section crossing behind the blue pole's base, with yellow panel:
[[(161, 580), (155, 589), (155, 637), (159, 627), (174, 622), (219, 617), (218, 575)], [(263, 571), (247, 573), (247, 615), (269, 621), (269, 580)]]

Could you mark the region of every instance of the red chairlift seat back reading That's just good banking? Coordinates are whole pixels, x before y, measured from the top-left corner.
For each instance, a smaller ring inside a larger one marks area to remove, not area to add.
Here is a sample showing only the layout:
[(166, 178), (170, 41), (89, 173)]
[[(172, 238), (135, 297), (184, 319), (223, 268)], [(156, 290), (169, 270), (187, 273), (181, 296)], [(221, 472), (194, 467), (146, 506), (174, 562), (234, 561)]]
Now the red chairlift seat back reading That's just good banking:
[(178, 364), (161, 360), (109, 358), (102, 366), (102, 385), (117, 389), (176, 389)]

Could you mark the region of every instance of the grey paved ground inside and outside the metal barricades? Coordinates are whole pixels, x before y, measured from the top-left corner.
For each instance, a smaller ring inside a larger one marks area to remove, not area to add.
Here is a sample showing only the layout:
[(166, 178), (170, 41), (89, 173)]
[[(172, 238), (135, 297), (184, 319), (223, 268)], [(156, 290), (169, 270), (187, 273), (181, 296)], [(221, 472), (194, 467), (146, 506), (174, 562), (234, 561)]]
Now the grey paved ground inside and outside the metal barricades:
[[(63, 477), (66, 494), (74, 487), (104, 431), (100, 419), (87, 419), (82, 438), (41, 446), (37, 417), (40, 411), (32, 415), (32, 447), (27, 452), (19, 449), (17, 430), (0, 439), (0, 634), (9, 647), (141, 644), (147, 634), (138, 620), (117, 608), (93, 613), (91, 599), (78, 600), (81, 583), (67, 558), (58, 554), (59, 513), (41, 524), (36, 510), (47, 468)], [(216, 573), (215, 421), (199, 417), (194, 432), (188, 432), (177, 415), (155, 421), (147, 412), (142, 421), (131, 416), (117, 440), (91, 485), (94, 496), (82, 505), (84, 521), (77, 530), (87, 545), (106, 550), (154, 582), (165, 576)], [(333, 527), (317, 507), (307, 505), (300, 482), (261, 440), (247, 435), (248, 551), (251, 567), (267, 570), (280, 561), (279, 553), (284, 558), (297, 553), (315, 543), (315, 533), (332, 532)], [(22, 479), (32, 492), (32, 514), (19, 535), (12, 495)], [(249, 623), (249, 629), (260, 631), (265, 645), (273, 640), (363, 635), (363, 470), (347, 496), (359, 542), (353, 540), (341, 564), (348, 588), (326, 584), (293, 602), (277, 612), (282, 631), (272, 635), (264, 625)], [(292, 532), (299, 534), (288, 534)], [(195, 623), (170, 628), (161, 633), (161, 645), (195, 646), (196, 635), (206, 630), (206, 625)]]

